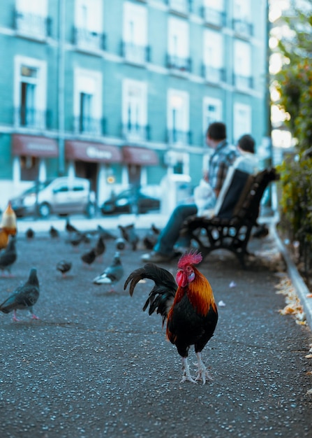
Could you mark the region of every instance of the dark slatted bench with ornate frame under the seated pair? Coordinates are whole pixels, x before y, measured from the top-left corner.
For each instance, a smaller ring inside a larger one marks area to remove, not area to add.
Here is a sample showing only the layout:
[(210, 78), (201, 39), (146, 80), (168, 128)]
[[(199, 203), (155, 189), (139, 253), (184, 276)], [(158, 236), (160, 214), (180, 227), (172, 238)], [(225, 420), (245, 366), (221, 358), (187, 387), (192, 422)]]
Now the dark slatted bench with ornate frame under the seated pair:
[[(257, 225), (262, 195), (269, 183), (277, 179), (278, 174), (274, 168), (260, 171), (255, 176), (246, 174), (241, 195), (234, 202), (232, 214), (229, 215), (228, 206), (225, 209), (221, 206), (217, 216), (191, 216), (185, 220), (181, 233), (191, 234), (192, 239), (198, 243), (203, 258), (211, 251), (223, 248), (235, 253), (242, 267), (246, 267), (247, 245), (251, 229)], [(228, 195), (229, 198), (230, 189)], [(225, 201), (226, 196), (223, 204), (226, 204)]]

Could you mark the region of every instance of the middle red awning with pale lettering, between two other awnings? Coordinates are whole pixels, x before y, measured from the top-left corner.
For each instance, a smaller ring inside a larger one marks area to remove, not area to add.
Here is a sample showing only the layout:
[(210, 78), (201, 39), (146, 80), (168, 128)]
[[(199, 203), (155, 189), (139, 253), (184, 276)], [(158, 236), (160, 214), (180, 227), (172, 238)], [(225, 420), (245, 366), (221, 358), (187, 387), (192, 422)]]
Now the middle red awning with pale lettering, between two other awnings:
[(68, 160), (89, 162), (118, 163), (122, 161), (121, 152), (117, 146), (103, 143), (87, 143), (85, 141), (65, 142), (65, 155)]

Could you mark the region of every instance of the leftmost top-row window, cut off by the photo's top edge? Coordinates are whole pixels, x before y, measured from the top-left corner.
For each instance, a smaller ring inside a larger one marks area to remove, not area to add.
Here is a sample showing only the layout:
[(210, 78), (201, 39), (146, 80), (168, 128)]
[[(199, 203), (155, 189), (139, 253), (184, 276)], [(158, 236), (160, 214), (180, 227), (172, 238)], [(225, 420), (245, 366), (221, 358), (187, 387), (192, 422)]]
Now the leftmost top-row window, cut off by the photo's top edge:
[(20, 34), (45, 38), (47, 23), (47, 0), (16, 0), (15, 28)]

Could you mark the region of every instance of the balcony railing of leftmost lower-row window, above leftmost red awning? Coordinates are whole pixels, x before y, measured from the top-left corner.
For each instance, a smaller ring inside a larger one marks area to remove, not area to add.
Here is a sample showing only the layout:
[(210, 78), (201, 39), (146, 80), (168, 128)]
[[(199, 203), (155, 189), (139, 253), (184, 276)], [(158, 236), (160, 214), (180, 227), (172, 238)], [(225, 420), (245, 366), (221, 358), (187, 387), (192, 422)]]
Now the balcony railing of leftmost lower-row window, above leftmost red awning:
[(51, 126), (50, 111), (20, 106), (15, 108), (15, 125), (20, 127), (46, 129)]

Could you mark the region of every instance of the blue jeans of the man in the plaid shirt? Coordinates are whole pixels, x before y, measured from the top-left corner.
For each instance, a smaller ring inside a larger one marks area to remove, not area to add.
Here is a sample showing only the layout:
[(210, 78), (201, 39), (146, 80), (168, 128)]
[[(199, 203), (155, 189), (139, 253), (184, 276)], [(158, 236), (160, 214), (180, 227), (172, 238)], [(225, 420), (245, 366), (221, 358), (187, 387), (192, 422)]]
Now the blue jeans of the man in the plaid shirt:
[(174, 255), (174, 245), (188, 248), (191, 245), (191, 236), (179, 236), (184, 220), (188, 216), (193, 216), (198, 212), (195, 204), (186, 204), (177, 206), (172, 211), (171, 216), (159, 234), (158, 241), (154, 246), (154, 251), (157, 253), (172, 256)]

